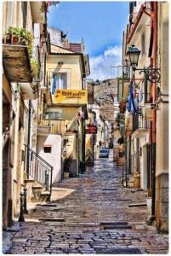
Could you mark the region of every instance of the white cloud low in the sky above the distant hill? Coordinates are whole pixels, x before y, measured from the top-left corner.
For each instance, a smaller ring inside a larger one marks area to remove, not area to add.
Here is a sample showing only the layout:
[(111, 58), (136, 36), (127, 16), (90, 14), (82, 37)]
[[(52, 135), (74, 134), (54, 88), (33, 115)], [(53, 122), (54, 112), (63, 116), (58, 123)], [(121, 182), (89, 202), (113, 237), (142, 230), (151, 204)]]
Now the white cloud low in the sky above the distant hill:
[(97, 55), (89, 60), (90, 75), (88, 79), (111, 79), (115, 76), (116, 70), (111, 66), (121, 65), (122, 63), (122, 46), (109, 46), (102, 55)]

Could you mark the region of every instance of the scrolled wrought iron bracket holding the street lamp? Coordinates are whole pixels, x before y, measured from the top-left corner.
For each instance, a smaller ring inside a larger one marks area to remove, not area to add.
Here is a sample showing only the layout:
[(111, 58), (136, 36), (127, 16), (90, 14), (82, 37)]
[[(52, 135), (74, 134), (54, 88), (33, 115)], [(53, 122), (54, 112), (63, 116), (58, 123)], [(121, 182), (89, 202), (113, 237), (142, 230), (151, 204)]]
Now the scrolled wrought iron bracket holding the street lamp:
[(136, 68), (134, 67), (134, 71), (140, 71), (141, 73), (145, 73), (147, 80), (151, 83), (160, 83), (161, 74), (159, 68), (152, 68), (152, 67), (144, 67), (144, 68)]

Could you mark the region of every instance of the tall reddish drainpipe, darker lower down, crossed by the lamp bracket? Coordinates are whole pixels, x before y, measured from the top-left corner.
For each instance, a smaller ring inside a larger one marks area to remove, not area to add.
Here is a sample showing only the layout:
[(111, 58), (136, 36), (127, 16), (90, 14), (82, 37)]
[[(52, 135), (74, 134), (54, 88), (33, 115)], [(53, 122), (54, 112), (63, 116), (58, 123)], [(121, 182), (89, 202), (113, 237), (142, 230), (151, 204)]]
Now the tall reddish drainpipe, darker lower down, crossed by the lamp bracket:
[[(153, 68), (157, 68), (157, 2), (151, 3), (153, 5)], [(152, 88), (153, 104), (157, 100), (157, 83), (153, 83)], [(157, 112), (152, 109), (152, 202), (151, 202), (151, 218), (155, 219), (156, 207), (156, 136), (157, 136)]]

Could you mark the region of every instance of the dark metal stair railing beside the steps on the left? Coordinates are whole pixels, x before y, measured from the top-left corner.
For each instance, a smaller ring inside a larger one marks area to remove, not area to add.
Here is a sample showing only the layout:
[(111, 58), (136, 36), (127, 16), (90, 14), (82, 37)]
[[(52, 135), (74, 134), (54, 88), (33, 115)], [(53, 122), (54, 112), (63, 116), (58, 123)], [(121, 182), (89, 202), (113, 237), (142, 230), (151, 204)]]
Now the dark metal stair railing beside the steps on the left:
[(29, 162), (27, 174), (40, 183), (51, 195), (53, 166), (50, 166), (46, 160), (43, 160), (41, 156), (27, 145), (25, 145), (25, 148), (26, 160)]

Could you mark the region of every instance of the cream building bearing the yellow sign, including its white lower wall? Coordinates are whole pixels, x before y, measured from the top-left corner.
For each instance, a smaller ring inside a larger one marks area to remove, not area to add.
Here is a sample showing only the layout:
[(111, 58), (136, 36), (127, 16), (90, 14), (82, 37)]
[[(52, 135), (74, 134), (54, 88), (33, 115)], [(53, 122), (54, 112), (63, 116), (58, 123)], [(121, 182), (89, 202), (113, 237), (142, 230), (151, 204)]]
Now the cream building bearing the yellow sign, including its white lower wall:
[[(84, 79), (89, 73), (89, 65), (83, 48), (75, 49), (75, 44), (71, 43), (66, 45), (60, 30), (48, 28), (48, 32), (50, 42), (52, 37), (55, 44), (49, 46), (46, 79), (41, 87), (37, 145), (38, 154), (45, 160), (54, 154), (50, 161), (54, 167), (54, 185), (66, 176), (65, 172), (69, 172), (70, 177), (77, 177), (80, 166), (85, 165), (88, 92)], [(60, 140), (60, 151), (55, 148), (54, 137)]]

